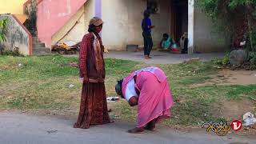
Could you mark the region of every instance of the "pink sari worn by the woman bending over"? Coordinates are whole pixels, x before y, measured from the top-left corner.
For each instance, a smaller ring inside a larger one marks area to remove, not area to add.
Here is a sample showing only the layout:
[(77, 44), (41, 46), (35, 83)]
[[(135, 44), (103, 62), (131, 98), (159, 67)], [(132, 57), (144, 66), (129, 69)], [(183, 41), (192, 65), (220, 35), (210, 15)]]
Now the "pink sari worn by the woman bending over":
[(123, 79), (122, 94), (125, 94), (127, 83), (135, 75), (137, 75), (135, 86), (140, 91), (137, 127), (146, 126), (155, 118), (158, 118), (157, 122), (170, 118), (170, 108), (174, 102), (166, 74), (158, 67), (137, 70)]

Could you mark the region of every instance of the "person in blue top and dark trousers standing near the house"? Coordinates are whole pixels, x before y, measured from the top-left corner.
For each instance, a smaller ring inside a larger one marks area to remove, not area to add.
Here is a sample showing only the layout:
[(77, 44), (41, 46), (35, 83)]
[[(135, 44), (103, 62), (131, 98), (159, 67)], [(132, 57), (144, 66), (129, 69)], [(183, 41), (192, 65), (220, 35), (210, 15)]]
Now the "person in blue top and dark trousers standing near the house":
[(151, 19), (150, 19), (150, 11), (145, 10), (144, 11), (144, 18), (142, 20), (142, 36), (144, 40), (144, 57), (146, 59), (150, 59), (150, 52), (153, 47), (152, 37), (151, 37), (151, 29), (153, 29), (154, 26), (151, 25)]

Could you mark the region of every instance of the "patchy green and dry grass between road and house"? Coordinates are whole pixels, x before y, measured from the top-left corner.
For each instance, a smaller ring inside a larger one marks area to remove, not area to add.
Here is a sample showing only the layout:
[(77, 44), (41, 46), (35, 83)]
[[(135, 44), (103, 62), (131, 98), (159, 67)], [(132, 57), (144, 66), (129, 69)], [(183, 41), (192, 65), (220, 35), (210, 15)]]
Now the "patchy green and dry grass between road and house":
[[(0, 109), (71, 110), (78, 113), (82, 84), (78, 69), (69, 65), (78, 58), (62, 55), (0, 57)], [(106, 59), (106, 94), (115, 96), (116, 81), (131, 71), (146, 67), (140, 62)], [(155, 65), (165, 71), (176, 104), (166, 125), (196, 125), (218, 119), (223, 99), (256, 98), (256, 86), (200, 86), (218, 74), (214, 62)], [(74, 87), (70, 87), (70, 85)], [(179, 101), (179, 102), (178, 102)], [(218, 105), (216, 105), (216, 103)], [(120, 100), (110, 104), (111, 117), (135, 121), (136, 107)]]

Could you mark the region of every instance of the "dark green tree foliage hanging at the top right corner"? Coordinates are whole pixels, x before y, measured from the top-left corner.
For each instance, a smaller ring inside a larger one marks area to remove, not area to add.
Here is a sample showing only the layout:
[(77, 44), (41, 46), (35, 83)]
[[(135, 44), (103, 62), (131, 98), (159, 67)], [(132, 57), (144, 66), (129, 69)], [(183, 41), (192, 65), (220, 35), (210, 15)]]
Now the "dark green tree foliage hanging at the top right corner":
[[(195, 5), (214, 22), (232, 34), (232, 45), (245, 41), (256, 51), (256, 0), (194, 0)], [(255, 34), (254, 34), (255, 33)]]

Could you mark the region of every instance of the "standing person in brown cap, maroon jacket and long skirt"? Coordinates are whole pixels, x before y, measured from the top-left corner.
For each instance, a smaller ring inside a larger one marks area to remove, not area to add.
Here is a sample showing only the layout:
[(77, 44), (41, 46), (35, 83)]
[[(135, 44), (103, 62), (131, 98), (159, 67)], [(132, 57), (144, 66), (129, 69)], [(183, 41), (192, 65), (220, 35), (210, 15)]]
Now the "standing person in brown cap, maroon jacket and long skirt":
[(74, 128), (88, 129), (92, 125), (110, 123), (106, 105), (105, 62), (103, 59), (102, 19), (90, 19), (88, 32), (82, 38), (79, 53), (80, 79), (82, 81), (82, 98), (80, 111)]

